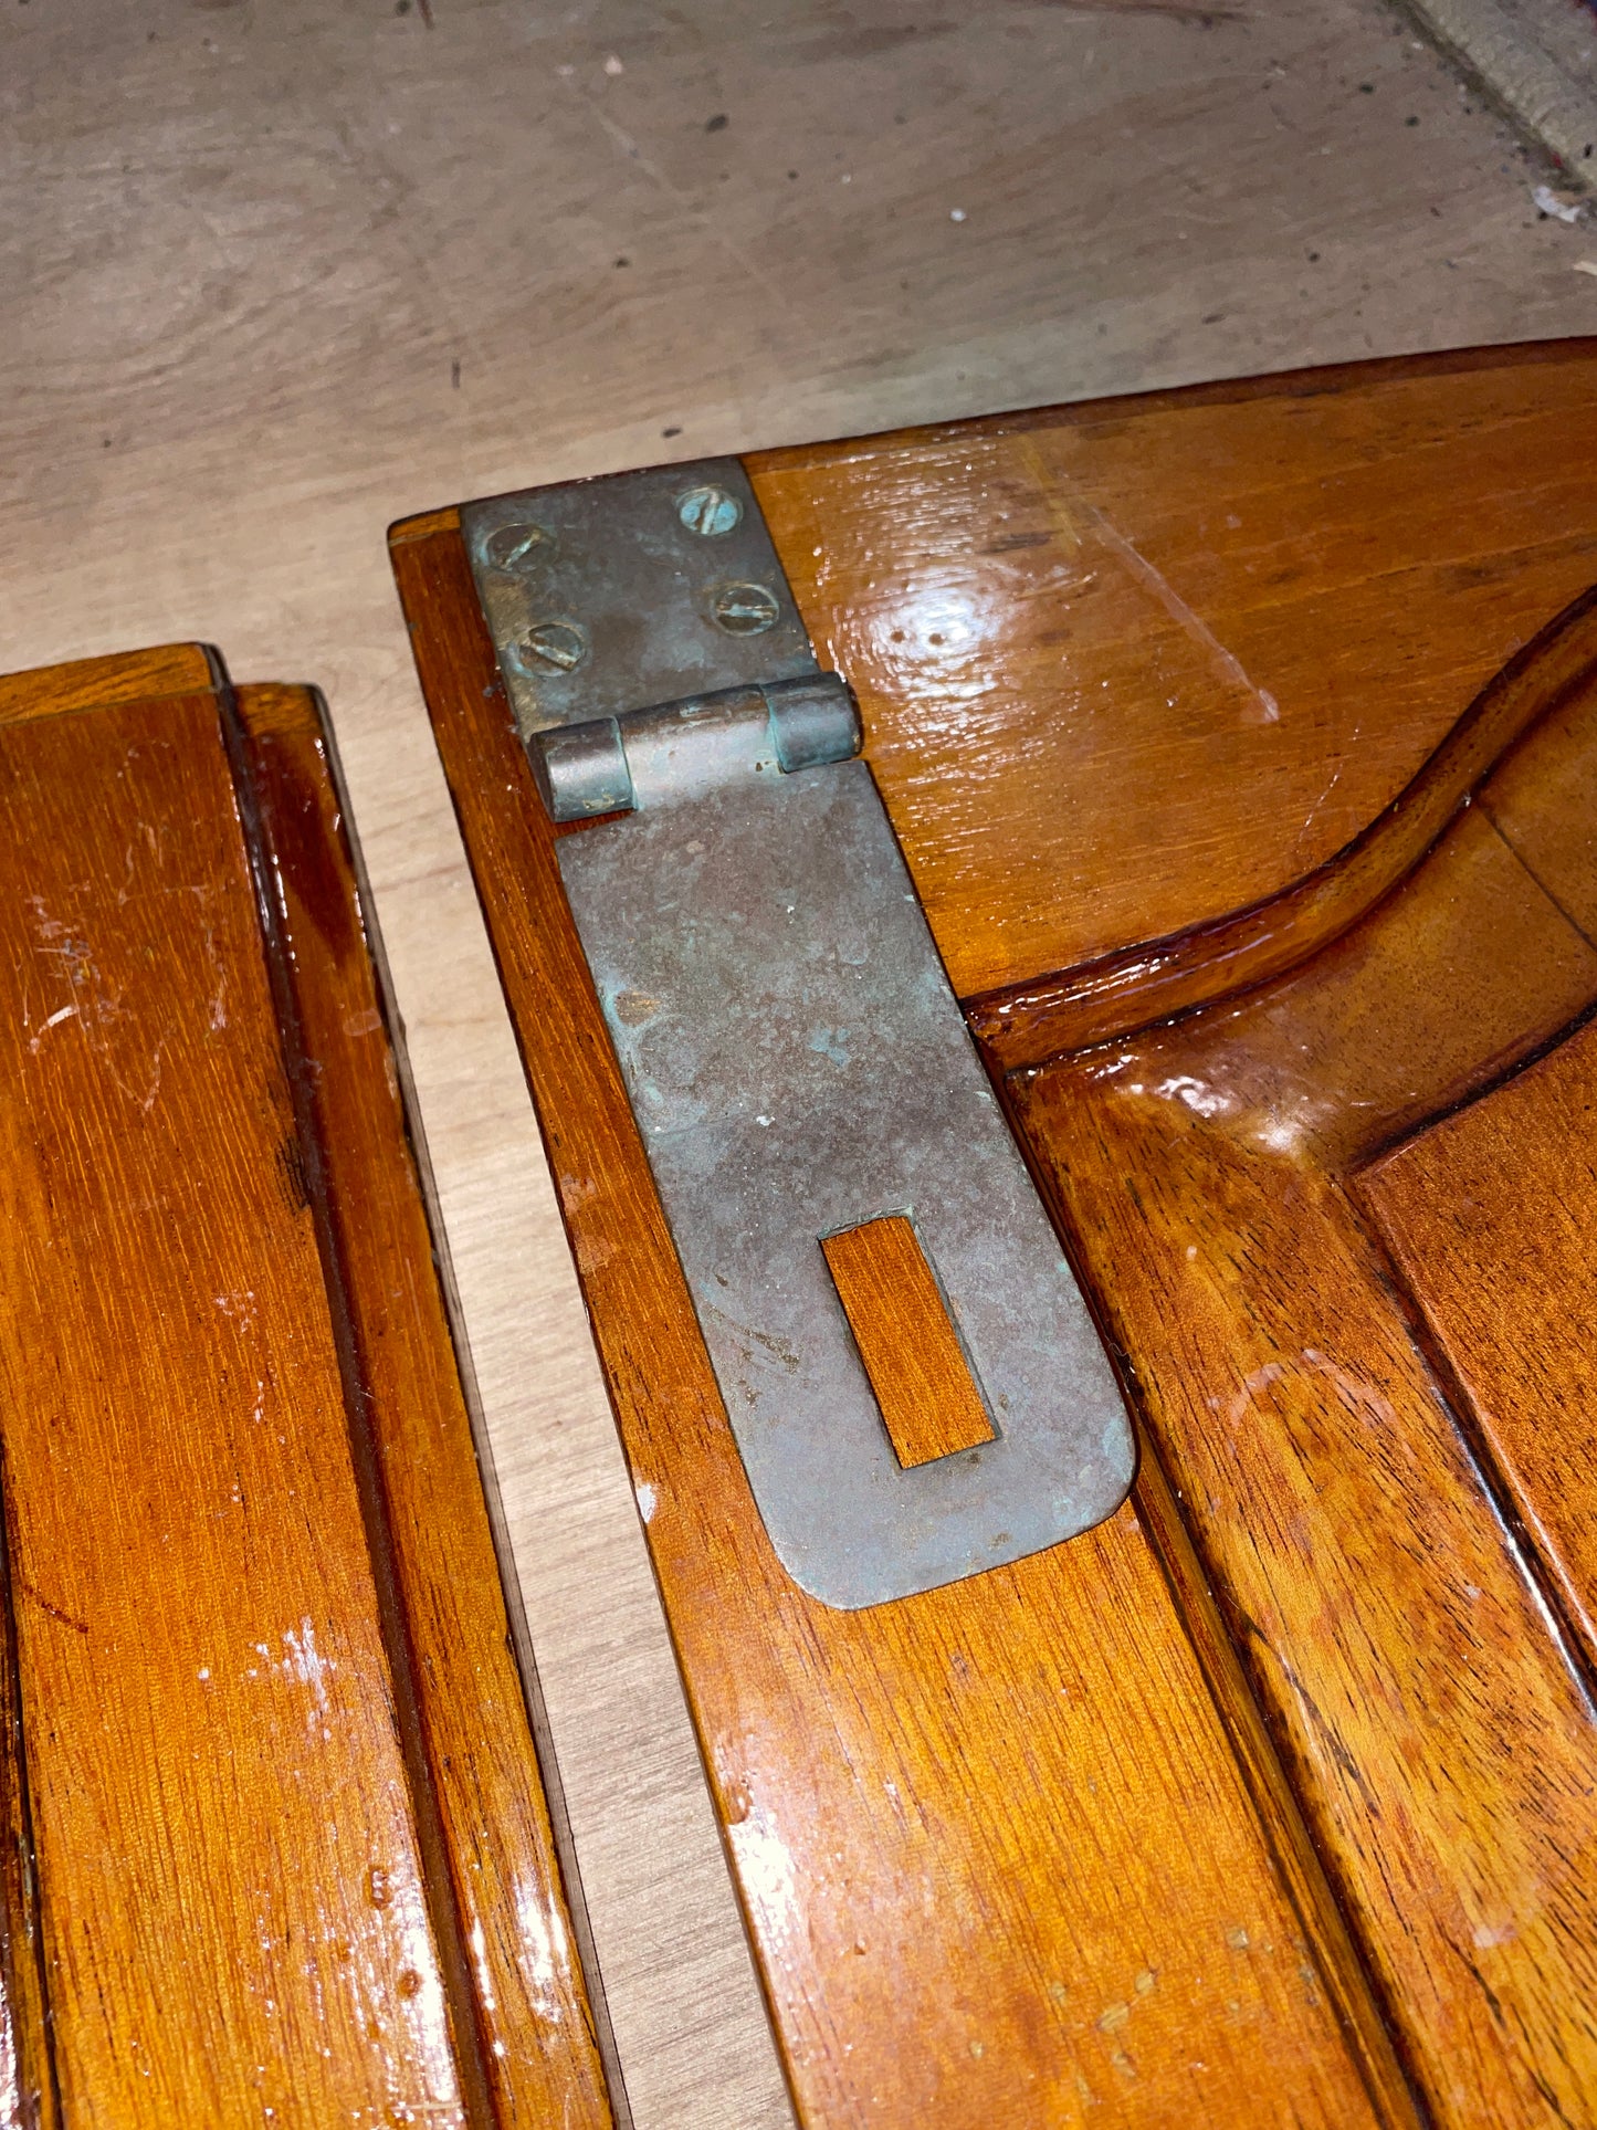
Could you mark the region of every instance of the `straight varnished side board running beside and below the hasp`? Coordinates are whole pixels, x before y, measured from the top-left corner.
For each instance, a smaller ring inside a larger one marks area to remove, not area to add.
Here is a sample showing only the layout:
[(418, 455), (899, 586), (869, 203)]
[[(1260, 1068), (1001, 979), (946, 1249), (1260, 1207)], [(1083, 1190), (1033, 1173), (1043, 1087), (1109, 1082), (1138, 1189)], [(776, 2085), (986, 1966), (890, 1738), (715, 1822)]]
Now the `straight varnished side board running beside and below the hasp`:
[(1156, 1472), (1080, 1544), (950, 1591), (845, 1615), (788, 1583), (464, 550), (394, 560), (801, 2117), (1410, 2119)]

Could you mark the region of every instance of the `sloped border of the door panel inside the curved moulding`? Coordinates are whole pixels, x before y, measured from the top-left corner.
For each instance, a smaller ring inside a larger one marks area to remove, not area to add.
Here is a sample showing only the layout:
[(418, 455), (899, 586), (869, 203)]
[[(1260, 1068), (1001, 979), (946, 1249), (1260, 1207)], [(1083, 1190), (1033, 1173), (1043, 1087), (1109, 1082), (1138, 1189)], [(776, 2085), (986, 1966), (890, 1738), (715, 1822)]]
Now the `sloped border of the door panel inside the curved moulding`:
[[(1591, 775), (1595, 699), (1574, 690), (1301, 971), (1009, 1080), (1420, 2085), (1459, 2126), (1597, 2107), (1591, 1681), (1542, 1580), (1580, 1617), (1588, 1478), (1578, 1423), (1569, 1457), (1548, 1436), (1548, 1372), (1584, 1376), (1586, 1044), (1484, 1093), (1597, 999), (1597, 950), (1520, 856), (1537, 816), (1569, 826), (1552, 797), (1582, 752)], [(1510, 803), (1520, 843), (1495, 824)]]

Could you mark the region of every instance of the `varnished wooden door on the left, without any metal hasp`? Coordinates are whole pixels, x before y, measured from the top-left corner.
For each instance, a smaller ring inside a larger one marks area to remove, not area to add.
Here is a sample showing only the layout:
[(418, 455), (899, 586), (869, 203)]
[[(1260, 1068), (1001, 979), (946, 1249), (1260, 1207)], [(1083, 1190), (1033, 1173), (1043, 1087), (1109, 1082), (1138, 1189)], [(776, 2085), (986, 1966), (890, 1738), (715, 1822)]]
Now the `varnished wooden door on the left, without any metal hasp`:
[(19, 675), (0, 809), (13, 2119), (609, 2121), (311, 699)]

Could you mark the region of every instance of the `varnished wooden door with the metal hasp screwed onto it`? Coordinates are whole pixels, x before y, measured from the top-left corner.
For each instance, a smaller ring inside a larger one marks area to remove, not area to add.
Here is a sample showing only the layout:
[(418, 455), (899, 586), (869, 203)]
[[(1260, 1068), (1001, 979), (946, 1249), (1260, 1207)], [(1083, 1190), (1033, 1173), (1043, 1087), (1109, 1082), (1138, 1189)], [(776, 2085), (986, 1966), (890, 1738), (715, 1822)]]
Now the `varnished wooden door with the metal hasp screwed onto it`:
[(816, 2130), (1597, 2119), (1593, 449), (1565, 343), (743, 462), (1139, 1440), (860, 1610), (758, 1514), (458, 513), (394, 528)]

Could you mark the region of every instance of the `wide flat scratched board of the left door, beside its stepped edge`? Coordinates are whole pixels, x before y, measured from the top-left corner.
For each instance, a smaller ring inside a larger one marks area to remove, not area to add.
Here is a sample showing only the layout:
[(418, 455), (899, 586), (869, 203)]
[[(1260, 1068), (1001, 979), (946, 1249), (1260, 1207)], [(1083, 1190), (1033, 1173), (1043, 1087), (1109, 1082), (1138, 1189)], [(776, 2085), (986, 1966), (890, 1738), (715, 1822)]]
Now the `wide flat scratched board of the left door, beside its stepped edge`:
[(217, 701), (2, 750), (0, 1380), (66, 2117), (462, 2121)]

